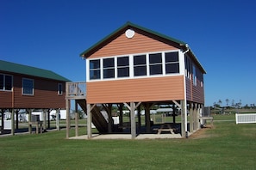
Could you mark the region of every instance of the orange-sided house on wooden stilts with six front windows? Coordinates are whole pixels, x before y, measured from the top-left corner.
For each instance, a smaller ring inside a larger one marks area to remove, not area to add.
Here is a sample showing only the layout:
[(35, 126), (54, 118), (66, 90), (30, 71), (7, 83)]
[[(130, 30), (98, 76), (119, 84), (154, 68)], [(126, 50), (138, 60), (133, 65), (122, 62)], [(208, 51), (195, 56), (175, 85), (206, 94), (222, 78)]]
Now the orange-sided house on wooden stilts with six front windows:
[[(76, 100), (76, 106), (79, 104), (84, 109), (88, 138), (92, 137), (91, 122), (99, 133), (115, 132), (113, 105), (119, 108), (121, 126), (122, 108), (130, 111), (132, 139), (140, 133), (140, 108), (145, 110), (145, 133), (152, 133), (150, 109), (154, 105), (172, 105), (173, 110), (181, 111), (180, 137), (200, 128), (206, 71), (183, 41), (127, 22), (80, 56), (86, 60), (86, 94), (79, 88), (85, 87), (85, 83), (68, 82), (66, 110), (70, 100)], [(108, 113), (107, 119), (100, 108)]]

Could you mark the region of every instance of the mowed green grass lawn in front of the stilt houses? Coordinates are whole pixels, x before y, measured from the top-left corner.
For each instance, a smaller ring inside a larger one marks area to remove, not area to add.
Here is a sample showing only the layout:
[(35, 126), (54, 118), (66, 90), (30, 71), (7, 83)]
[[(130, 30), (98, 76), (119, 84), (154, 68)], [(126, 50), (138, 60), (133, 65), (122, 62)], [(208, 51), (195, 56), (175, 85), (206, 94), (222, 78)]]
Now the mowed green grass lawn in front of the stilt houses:
[[(222, 116), (215, 119), (234, 119)], [(255, 169), (256, 124), (214, 126), (188, 139), (67, 140), (66, 131), (0, 137), (0, 169)]]

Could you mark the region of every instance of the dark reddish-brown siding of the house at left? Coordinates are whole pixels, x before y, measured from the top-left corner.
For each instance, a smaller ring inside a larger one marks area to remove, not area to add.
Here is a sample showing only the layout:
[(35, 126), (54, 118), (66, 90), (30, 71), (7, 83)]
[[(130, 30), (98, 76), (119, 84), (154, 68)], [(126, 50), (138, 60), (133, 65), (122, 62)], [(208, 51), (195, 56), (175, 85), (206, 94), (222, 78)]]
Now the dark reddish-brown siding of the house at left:
[[(34, 95), (22, 94), (22, 78), (34, 80)], [(58, 95), (58, 83), (63, 83), (63, 94)], [(13, 92), (0, 92), (0, 108), (65, 108), (65, 82), (29, 76), (13, 76)], [(14, 93), (14, 94), (13, 94)], [(14, 96), (14, 100), (12, 99)], [(12, 102), (13, 100), (13, 102)]]

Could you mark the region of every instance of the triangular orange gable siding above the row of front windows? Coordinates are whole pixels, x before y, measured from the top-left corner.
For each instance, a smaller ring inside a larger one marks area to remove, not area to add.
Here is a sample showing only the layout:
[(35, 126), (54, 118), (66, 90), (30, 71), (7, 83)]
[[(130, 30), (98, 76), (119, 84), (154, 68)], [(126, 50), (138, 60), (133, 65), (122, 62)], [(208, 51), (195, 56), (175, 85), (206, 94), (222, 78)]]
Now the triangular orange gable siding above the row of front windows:
[(116, 39), (109, 42), (109, 44), (103, 46), (97, 52), (91, 54), (89, 58), (117, 56), (141, 52), (160, 52), (178, 49), (174, 46), (170, 46), (169, 44), (154, 39), (155, 37), (148, 37), (147, 35), (138, 33), (138, 30), (134, 31), (136, 31), (136, 33), (132, 39), (128, 39), (125, 36), (125, 33), (122, 33)]

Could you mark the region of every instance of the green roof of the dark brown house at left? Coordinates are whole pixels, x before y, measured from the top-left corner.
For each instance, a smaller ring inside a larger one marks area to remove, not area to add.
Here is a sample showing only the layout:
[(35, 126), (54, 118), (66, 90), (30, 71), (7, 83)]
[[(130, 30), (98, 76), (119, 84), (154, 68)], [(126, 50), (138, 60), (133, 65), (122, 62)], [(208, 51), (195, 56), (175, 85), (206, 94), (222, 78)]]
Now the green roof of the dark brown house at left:
[(37, 76), (41, 78), (47, 78), (63, 82), (71, 82), (70, 80), (66, 79), (63, 76), (59, 76), (51, 70), (43, 70), (27, 65), (10, 63), (3, 60), (0, 60), (0, 71), (6, 71), (10, 73), (16, 73), (27, 76)]

